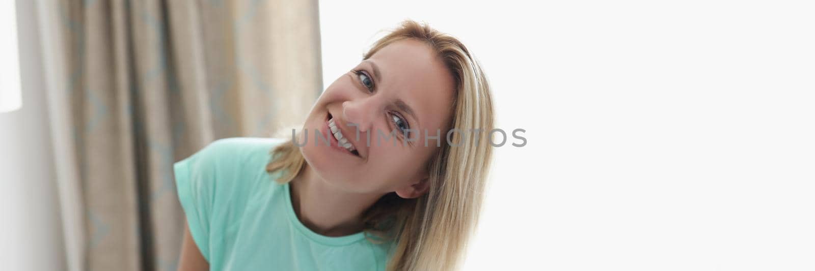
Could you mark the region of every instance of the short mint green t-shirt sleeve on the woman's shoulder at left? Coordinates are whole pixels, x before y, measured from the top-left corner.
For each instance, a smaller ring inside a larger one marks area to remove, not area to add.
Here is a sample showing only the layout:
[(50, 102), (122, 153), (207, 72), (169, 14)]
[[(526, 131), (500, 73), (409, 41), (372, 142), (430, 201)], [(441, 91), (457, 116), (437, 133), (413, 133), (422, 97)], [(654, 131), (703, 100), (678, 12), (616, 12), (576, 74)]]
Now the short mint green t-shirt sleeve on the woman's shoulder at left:
[(215, 199), (218, 141), (174, 164), (178, 201), (187, 216), (192, 239), (209, 261), (210, 221)]

